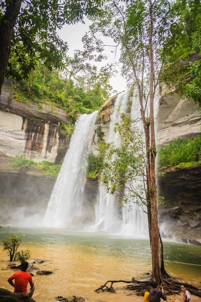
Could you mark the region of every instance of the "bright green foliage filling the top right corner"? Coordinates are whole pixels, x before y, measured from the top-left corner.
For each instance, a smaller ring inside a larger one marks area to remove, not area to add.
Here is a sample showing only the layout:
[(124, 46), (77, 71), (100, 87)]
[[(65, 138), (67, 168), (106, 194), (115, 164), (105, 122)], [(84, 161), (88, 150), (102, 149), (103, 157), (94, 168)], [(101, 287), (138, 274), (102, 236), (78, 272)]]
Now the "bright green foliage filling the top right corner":
[(175, 86), (183, 98), (201, 106), (201, 3), (199, 0), (176, 0), (171, 35), (165, 44), (165, 68), (161, 82)]

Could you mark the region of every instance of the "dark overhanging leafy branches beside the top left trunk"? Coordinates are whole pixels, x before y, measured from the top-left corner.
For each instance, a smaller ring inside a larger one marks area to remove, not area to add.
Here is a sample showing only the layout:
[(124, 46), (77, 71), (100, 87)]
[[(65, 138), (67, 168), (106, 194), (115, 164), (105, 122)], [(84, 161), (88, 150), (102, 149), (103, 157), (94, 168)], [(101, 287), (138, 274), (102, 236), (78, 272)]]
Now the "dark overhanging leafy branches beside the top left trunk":
[[(83, 22), (84, 16), (97, 16), (101, 3), (99, 0), (22, 1), (13, 32), (7, 75), (24, 79), (36, 68), (38, 60), (42, 60), (48, 69), (64, 67), (63, 53), (68, 45), (59, 38), (57, 30), (65, 24)], [(1, 1), (0, 22), (8, 6), (9, 1)]]

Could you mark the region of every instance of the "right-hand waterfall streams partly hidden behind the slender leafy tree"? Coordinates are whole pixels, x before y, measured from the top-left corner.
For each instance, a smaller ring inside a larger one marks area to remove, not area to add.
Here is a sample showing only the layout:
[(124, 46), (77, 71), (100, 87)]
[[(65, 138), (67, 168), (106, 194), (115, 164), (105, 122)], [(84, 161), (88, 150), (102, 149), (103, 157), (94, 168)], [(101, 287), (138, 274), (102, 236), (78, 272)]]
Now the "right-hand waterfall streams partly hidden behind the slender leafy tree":
[[(106, 142), (114, 142), (118, 147), (121, 142), (118, 133), (114, 132), (115, 123), (120, 122), (120, 116), (117, 108), (121, 106), (121, 112), (127, 112), (127, 104), (129, 93), (123, 92), (118, 95), (114, 111), (111, 115), (109, 138)], [(143, 131), (143, 123), (141, 120), (140, 102), (139, 98), (133, 98), (131, 117), (133, 120), (139, 119), (136, 124), (140, 130)], [(135, 182), (138, 186), (140, 181)], [(124, 236), (140, 237), (148, 236), (148, 221), (147, 214), (135, 202), (125, 204), (122, 208), (118, 207), (115, 197), (106, 192), (102, 183), (99, 184), (99, 198), (95, 206), (95, 224), (92, 225), (89, 231), (104, 231), (114, 234), (121, 234)]]

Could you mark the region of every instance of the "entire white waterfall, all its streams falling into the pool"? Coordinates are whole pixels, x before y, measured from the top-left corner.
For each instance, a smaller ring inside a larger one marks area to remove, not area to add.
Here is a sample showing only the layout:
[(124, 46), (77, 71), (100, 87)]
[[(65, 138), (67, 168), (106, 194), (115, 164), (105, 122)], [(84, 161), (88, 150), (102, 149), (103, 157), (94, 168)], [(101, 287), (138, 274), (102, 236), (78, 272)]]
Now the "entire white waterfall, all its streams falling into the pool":
[[(117, 96), (106, 142), (121, 145), (118, 133), (114, 131), (115, 124), (120, 122), (120, 112), (128, 110), (129, 92)], [(65, 156), (61, 171), (55, 183), (48, 208), (44, 218), (44, 225), (49, 228), (72, 228), (74, 217), (87, 217), (88, 212), (83, 204), (83, 191), (86, 180), (87, 159), (94, 134), (97, 112), (82, 115), (76, 122), (75, 131), (70, 140), (70, 146)], [(139, 98), (134, 96), (131, 117), (139, 120), (136, 126), (143, 130)], [(134, 185), (140, 183), (135, 181)], [(115, 197), (106, 192), (99, 183), (98, 196), (95, 203), (93, 221), (88, 219), (84, 231), (106, 232), (132, 237), (148, 236), (147, 215), (137, 203), (131, 202), (120, 207)]]

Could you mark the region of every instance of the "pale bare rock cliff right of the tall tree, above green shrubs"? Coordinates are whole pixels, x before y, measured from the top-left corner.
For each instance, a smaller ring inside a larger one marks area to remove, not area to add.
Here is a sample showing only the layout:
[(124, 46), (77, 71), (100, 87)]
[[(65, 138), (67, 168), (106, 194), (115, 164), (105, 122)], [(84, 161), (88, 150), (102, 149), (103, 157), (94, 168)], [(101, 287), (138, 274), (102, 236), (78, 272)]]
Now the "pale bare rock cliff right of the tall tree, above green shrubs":
[(192, 138), (201, 133), (201, 114), (190, 99), (181, 100), (162, 90), (156, 116), (157, 145), (166, 145), (177, 138)]

